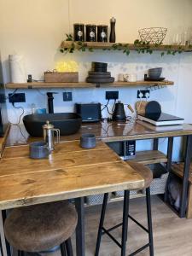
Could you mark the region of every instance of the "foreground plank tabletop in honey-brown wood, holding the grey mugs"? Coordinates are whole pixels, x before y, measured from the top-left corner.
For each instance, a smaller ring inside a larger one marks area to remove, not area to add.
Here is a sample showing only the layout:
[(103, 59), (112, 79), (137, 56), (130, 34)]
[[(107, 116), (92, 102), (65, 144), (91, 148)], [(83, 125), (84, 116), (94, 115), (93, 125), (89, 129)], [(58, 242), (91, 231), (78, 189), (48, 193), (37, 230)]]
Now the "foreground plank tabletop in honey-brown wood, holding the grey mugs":
[(0, 160), (0, 209), (143, 188), (143, 177), (105, 143), (84, 149), (59, 143), (49, 159), (32, 160), (28, 146), (5, 148)]

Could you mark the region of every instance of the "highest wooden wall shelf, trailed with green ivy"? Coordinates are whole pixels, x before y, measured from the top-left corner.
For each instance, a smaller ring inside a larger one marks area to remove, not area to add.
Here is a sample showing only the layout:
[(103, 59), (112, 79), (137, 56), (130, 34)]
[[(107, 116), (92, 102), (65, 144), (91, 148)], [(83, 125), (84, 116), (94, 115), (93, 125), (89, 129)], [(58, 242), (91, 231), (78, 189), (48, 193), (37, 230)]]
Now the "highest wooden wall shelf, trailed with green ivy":
[[(125, 44), (125, 43), (100, 43), (100, 42), (83, 42), (84, 46), (88, 49), (113, 49), (114, 44), (119, 44), (121, 47), (128, 46), (130, 50), (137, 50), (137, 49), (146, 49), (146, 46), (138, 47), (135, 44)], [(69, 49), (74, 47), (75, 49), (80, 49), (82, 46), (79, 45), (78, 42), (73, 41), (63, 41), (61, 42), (61, 49)], [(174, 50), (180, 50), (182, 49), (185, 52), (192, 51), (191, 46), (185, 46), (185, 45), (167, 45), (167, 44), (161, 44), (156, 46), (155, 44), (149, 44), (150, 49), (153, 50), (161, 50), (161, 51), (167, 51), (171, 49)]]

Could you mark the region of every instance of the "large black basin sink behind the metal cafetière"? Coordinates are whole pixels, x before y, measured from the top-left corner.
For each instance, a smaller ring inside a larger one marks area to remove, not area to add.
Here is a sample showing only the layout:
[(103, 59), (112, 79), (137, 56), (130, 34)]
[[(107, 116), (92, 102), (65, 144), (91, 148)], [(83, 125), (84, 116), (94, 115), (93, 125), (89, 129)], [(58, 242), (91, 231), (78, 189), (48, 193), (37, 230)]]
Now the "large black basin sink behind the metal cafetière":
[(42, 126), (49, 120), (61, 135), (71, 135), (79, 131), (81, 117), (77, 113), (34, 113), (25, 115), (23, 123), (32, 137), (43, 137)]

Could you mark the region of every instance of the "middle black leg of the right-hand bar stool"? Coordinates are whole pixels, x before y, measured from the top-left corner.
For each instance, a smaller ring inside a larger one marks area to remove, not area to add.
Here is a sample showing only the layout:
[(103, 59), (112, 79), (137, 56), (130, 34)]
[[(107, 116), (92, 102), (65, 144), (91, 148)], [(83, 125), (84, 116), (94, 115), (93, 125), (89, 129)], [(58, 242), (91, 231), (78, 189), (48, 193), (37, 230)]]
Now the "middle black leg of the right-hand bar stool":
[(122, 239), (121, 239), (121, 256), (125, 256), (126, 253), (126, 241), (127, 241), (127, 228), (128, 228), (128, 214), (129, 214), (129, 201), (130, 191), (124, 191), (124, 209), (123, 209), (123, 226), (122, 226)]

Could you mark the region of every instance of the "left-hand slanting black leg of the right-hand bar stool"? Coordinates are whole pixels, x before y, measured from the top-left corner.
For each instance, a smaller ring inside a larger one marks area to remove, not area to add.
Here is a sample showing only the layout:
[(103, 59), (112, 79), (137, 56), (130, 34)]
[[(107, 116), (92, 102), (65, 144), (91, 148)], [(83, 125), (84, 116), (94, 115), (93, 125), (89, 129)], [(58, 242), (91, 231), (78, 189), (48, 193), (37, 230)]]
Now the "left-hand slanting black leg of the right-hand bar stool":
[(96, 239), (96, 253), (95, 256), (99, 255), (99, 248), (102, 240), (102, 227), (104, 224), (104, 218), (105, 218), (105, 212), (106, 212), (106, 207), (108, 204), (108, 193), (104, 194), (103, 202), (102, 202), (102, 214), (100, 218), (100, 223), (99, 223), (99, 230), (97, 234), (97, 239)]

